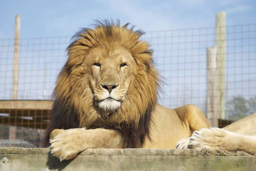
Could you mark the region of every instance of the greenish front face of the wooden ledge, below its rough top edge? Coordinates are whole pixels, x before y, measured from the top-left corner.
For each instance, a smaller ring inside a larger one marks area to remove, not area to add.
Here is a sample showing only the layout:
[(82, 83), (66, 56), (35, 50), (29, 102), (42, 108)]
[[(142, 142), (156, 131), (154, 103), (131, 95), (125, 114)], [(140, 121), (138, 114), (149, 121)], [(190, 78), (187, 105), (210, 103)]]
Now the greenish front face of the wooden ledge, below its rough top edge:
[(59, 162), (46, 154), (0, 154), (1, 170), (254, 170), (255, 156), (79, 155)]

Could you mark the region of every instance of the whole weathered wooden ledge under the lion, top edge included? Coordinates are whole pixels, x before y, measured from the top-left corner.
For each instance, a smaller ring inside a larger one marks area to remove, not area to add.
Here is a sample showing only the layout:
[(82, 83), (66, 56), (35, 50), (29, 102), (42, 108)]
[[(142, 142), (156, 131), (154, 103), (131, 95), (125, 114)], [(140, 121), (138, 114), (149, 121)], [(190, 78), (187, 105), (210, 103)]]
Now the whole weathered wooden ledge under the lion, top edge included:
[(48, 148), (0, 148), (1, 170), (255, 170), (256, 156), (198, 149), (87, 149), (59, 162)]

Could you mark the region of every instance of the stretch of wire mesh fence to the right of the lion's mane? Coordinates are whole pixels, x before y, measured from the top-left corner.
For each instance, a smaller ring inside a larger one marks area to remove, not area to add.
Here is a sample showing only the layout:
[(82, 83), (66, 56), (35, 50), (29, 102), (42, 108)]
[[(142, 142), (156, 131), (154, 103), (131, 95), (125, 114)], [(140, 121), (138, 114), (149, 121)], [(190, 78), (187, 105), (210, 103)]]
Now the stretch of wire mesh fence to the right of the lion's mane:
[[(255, 24), (226, 27), (226, 120), (256, 112), (255, 35)], [(207, 48), (216, 45), (216, 28), (154, 31), (145, 39), (165, 78), (160, 102), (169, 108), (196, 104), (207, 114)]]

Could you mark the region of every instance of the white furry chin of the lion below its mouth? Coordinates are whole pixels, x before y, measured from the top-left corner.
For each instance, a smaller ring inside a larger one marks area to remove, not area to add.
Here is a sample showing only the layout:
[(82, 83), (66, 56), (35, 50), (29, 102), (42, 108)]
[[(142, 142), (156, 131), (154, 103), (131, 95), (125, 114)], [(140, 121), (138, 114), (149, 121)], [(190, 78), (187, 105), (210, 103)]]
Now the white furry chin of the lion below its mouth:
[(105, 99), (99, 103), (99, 108), (104, 111), (115, 111), (121, 106), (121, 102), (114, 99)]

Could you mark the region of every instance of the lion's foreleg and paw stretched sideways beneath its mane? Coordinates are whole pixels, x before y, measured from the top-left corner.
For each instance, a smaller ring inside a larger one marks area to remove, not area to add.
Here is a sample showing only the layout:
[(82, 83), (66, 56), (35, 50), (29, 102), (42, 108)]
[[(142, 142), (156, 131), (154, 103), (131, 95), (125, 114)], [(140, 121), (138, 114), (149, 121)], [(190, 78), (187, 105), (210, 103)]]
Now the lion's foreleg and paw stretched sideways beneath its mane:
[(60, 161), (73, 158), (87, 148), (125, 148), (121, 134), (115, 130), (54, 130), (50, 137), (51, 154)]

